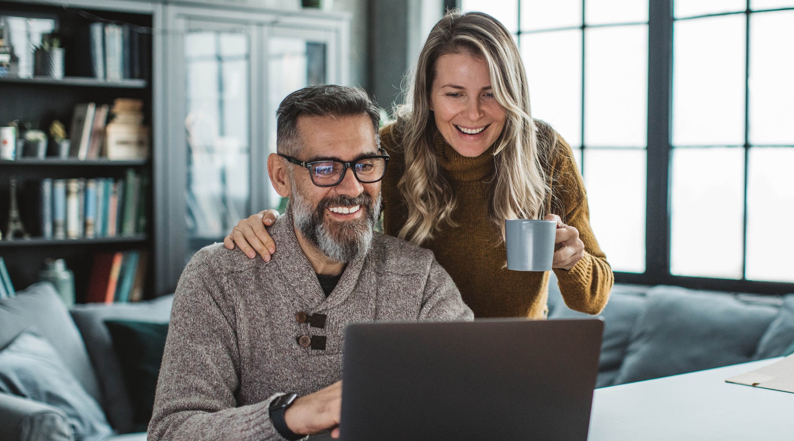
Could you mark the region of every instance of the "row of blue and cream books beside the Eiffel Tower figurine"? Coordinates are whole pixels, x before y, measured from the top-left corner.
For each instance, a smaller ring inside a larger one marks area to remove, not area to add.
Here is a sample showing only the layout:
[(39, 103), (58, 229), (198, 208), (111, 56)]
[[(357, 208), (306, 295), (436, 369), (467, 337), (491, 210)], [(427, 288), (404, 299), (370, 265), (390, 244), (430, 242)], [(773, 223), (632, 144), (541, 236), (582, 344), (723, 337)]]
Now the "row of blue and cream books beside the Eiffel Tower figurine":
[(148, 185), (148, 176), (133, 168), (121, 179), (29, 182), (25, 185), (25, 225), (40, 226), (34, 233), (56, 239), (145, 234)]

